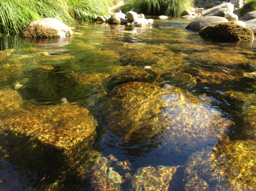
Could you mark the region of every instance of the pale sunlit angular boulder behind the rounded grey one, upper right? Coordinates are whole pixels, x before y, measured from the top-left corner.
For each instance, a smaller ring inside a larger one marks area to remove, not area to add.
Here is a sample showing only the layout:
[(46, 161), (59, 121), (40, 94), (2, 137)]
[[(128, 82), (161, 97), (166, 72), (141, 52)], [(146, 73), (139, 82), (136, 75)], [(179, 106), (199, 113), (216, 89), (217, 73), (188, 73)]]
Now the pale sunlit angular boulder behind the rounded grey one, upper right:
[(233, 13), (234, 5), (231, 3), (223, 3), (211, 9), (208, 9), (202, 13), (202, 17), (209, 17), (209, 16), (217, 16), (217, 17), (225, 17), (225, 14), (228, 12)]

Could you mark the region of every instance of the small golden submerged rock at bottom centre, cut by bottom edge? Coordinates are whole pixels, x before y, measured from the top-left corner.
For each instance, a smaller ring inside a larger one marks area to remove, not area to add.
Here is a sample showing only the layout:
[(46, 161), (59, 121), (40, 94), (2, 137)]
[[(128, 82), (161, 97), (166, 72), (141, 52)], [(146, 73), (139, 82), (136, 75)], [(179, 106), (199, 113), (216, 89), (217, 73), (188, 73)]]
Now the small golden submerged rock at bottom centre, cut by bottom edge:
[(133, 190), (167, 191), (176, 169), (177, 167), (171, 166), (139, 168), (134, 176), (131, 177)]

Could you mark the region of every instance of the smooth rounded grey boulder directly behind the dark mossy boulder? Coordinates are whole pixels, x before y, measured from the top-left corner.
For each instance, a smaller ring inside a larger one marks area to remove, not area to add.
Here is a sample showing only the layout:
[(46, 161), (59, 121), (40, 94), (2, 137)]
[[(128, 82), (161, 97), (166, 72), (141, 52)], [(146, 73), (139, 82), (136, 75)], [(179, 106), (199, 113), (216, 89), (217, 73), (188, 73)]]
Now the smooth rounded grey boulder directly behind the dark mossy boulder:
[(199, 32), (202, 28), (210, 25), (210, 24), (217, 24), (221, 22), (228, 22), (226, 18), (223, 17), (204, 17), (204, 18), (199, 18), (195, 21), (192, 21), (188, 26), (186, 26), (185, 29), (190, 29), (195, 32)]

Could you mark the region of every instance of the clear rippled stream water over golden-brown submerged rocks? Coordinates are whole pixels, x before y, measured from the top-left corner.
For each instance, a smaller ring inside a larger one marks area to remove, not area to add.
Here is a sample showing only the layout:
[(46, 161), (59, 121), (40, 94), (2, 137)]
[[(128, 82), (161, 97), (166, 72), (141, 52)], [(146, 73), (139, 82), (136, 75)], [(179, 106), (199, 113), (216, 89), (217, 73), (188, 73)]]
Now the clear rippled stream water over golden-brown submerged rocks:
[(255, 190), (256, 43), (188, 23), (1, 38), (0, 190)]

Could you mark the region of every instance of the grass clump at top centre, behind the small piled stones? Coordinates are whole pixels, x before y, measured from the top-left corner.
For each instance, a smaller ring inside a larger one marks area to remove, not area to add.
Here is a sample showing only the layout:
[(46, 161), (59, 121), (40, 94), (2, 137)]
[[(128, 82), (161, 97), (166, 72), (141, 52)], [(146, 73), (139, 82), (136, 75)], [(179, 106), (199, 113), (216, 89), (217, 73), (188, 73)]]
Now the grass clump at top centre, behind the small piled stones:
[(123, 11), (180, 17), (186, 9), (193, 7), (194, 0), (128, 0)]

